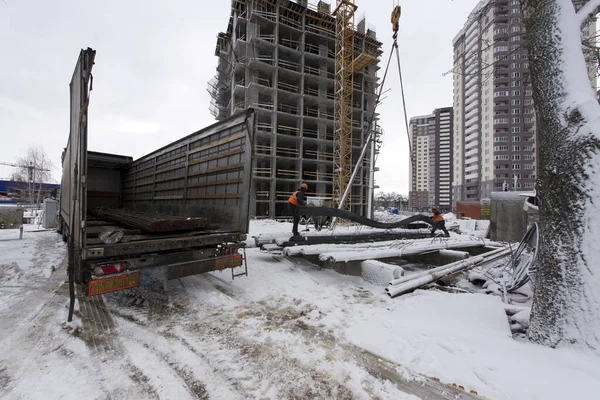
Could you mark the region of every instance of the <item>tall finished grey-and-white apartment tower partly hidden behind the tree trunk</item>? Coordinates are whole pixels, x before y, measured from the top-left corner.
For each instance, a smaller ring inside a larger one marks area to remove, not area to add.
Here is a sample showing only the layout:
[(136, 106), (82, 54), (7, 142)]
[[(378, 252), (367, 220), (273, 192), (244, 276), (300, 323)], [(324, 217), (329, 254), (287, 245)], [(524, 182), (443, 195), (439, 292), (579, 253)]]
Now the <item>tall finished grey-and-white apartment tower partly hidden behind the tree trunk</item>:
[[(595, 21), (584, 27), (593, 34)], [(533, 190), (536, 125), (520, 0), (484, 0), (454, 45), (453, 202)], [(595, 69), (590, 68), (595, 87)]]

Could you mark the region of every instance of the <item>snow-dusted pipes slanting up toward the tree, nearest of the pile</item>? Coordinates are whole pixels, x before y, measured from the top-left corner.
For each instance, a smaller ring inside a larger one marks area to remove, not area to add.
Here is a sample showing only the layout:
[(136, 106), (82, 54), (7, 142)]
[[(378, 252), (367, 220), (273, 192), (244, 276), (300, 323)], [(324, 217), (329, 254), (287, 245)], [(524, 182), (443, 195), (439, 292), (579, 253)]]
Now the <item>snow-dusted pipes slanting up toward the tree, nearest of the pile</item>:
[(488, 253), (433, 268), (420, 274), (403, 276), (402, 278), (391, 281), (385, 291), (390, 297), (396, 297), (433, 283), (444, 276), (464, 271), (469, 268), (484, 266), (499, 258), (506, 257), (509, 254), (509, 248), (498, 248)]

